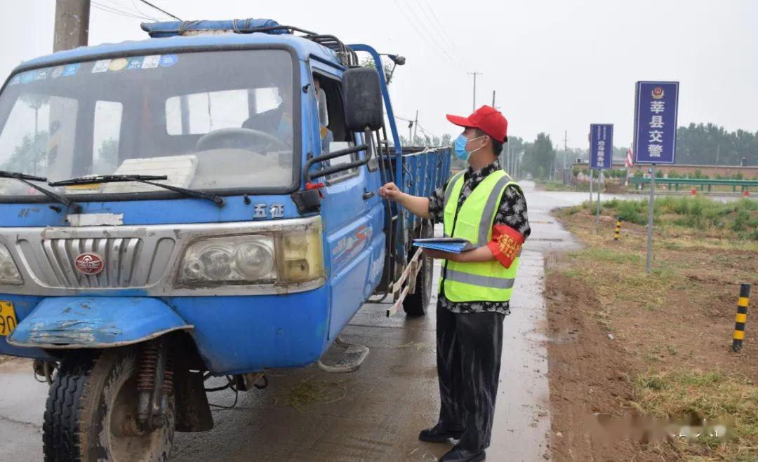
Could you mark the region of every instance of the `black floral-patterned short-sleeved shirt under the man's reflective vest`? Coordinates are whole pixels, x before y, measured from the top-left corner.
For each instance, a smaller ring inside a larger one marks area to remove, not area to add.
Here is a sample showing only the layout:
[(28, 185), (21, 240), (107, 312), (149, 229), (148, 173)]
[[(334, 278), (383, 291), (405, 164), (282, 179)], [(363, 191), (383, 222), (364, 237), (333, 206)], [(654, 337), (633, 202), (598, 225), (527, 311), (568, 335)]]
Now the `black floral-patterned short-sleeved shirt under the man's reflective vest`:
[[(479, 186), (490, 173), (500, 170), (500, 162), (494, 161), (492, 164), (481, 170), (474, 171), (471, 167), (463, 174), (463, 187), (458, 198), (458, 208), (456, 214), (461, 209), (463, 202), (471, 195), (471, 192)], [(429, 198), (429, 214), (434, 221), (442, 223), (444, 219), (444, 200), (445, 188), (439, 188)], [(498, 208), (493, 226), (504, 225), (515, 229), (526, 239), (531, 233), (529, 219), (527, 217), (526, 199), (521, 189), (517, 186), (510, 185), (503, 191), (503, 198), (500, 199), (500, 208)], [(444, 279), (444, 269), (443, 269)], [(440, 281), (442, 285), (442, 281)], [(496, 312), (500, 314), (510, 314), (510, 305), (508, 301), (449, 301), (444, 294), (444, 288), (437, 298), (437, 304), (453, 313), (487, 313)]]

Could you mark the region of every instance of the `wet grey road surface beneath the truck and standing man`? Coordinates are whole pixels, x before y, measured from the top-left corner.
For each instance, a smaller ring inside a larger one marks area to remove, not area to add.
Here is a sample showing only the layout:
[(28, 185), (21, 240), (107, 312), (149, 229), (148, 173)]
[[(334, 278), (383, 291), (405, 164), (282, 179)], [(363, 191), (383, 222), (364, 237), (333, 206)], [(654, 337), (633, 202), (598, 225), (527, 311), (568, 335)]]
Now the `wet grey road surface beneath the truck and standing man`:
[[(549, 211), (587, 199), (585, 193), (535, 192), (531, 182), (523, 186), (533, 231), (522, 254), (512, 314), (505, 320), (487, 460), (549, 457), (543, 254), (576, 245)], [(343, 331), (347, 342), (371, 349), (358, 371), (273, 371), (267, 389), (240, 393), (233, 409), (216, 407), (210, 432), (178, 433), (174, 459), (436, 460), (450, 445), (417, 439), (419, 430), (434, 425), (439, 409), (434, 301), (429, 314), (418, 319), (402, 313), (388, 319), (387, 307), (366, 304)], [(0, 364), (0, 460), (42, 460), (46, 389), (33, 379), (28, 361)], [(309, 396), (317, 401), (307, 404)], [(297, 408), (291, 405), (293, 398)], [(234, 394), (213, 393), (210, 401), (228, 406)]]

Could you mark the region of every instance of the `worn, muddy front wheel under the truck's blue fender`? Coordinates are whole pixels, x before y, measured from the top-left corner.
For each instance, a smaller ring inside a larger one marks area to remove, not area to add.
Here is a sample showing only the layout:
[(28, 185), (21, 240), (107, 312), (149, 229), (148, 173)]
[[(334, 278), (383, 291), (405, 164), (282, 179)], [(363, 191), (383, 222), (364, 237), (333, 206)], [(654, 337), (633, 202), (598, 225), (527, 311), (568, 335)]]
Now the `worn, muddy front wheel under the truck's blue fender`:
[[(127, 425), (136, 414), (139, 363), (134, 348), (77, 352), (61, 362), (42, 423), (46, 461), (167, 460), (174, 441), (174, 398), (153, 432)], [(128, 428), (127, 428), (128, 427)]]

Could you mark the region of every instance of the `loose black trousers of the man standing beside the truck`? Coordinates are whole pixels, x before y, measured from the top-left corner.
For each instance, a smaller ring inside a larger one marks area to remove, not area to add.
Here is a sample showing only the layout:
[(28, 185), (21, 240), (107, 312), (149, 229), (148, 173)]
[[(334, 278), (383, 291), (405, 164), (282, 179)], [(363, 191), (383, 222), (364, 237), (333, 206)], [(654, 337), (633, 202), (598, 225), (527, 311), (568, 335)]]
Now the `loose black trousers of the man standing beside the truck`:
[(452, 313), (437, 304), (438, 425), (463, 431), (458, 445), (470, 451), (490, 445), (504, 317), (500, 313)]

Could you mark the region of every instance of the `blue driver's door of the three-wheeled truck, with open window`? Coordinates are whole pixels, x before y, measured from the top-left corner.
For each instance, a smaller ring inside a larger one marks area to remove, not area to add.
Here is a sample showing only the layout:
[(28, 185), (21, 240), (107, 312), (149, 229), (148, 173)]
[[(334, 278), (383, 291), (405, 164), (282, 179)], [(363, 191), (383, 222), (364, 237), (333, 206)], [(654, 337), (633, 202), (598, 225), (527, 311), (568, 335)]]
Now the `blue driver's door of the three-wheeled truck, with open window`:
[[(318, 117), (321, 126), (317, 133), (323, 150), (337, 151), (362, 143), (361, 133), (346, 130), (340, 80), (334, 74), (320, 72), (315, 73), (315, 79), (324, 92), (321, 104), (327, 106)], [(332, 159), (330, 166), (356, 160), (357, 156)], [(329, 271), (330, 339), (339, 335), (381, 279), (384, 209), (377, 194), (379, 175), (372, 170), (363, 166), (319, 180), (325, 185), (321, 214)]]

